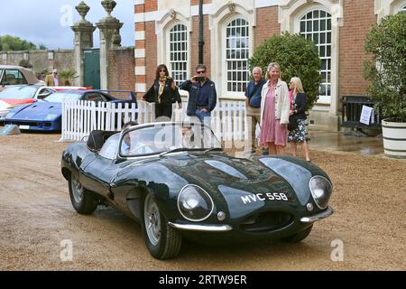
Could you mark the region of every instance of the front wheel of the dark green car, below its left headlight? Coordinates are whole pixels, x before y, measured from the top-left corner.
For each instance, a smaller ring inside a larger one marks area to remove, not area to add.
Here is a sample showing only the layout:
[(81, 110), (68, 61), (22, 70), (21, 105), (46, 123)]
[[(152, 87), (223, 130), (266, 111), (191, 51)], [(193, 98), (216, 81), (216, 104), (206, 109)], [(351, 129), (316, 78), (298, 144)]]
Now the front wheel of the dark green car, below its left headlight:
[(151, 255), (157, 259), (178, 256), (182, 238), (161, 214), (151, 194), (146, 194), (143, 205), (143, 233), (145, 244)]

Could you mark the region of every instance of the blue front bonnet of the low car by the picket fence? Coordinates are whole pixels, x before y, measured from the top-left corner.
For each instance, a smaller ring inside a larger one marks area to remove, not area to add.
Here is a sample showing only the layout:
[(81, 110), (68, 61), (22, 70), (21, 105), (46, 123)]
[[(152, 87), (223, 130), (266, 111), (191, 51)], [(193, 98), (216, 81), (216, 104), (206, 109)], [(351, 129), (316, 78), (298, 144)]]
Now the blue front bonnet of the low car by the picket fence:
[(15, 107), (12, 119), (43, 120), (49, 115), (61, 115), (61, 104), (56, 102), (38, 101), (31, 105)]

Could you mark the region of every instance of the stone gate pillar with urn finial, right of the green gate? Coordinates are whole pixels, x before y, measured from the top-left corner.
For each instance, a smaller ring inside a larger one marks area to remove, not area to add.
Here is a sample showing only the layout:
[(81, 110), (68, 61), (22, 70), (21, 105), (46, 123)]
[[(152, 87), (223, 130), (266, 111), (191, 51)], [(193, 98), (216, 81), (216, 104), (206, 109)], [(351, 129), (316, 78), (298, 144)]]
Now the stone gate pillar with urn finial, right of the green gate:
[(108, 51), (121, 46), (120, 29), (123, 23), (111, 15), (115, 9), (115, 1), (103, 0), (101, 5), (106, 10), (106, 17), (96, 23), (100, 30), (100, 88), (108, 89)]

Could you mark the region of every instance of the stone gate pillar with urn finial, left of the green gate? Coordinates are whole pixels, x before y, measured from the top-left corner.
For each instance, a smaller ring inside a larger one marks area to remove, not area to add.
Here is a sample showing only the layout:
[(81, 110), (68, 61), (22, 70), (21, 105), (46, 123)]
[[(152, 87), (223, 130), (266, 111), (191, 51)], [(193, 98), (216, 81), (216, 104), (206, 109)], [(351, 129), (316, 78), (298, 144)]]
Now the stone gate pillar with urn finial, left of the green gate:
[(75, 33), (73, 58), (78, 78), (74, 81), (76, 86), (81, 87), (84, 84), (84, 50), (93, 48), (93, 33), (96, 27), (85, 19), (90, 7), (84, 1), (75, 8), (82, 19), (70, 27)]

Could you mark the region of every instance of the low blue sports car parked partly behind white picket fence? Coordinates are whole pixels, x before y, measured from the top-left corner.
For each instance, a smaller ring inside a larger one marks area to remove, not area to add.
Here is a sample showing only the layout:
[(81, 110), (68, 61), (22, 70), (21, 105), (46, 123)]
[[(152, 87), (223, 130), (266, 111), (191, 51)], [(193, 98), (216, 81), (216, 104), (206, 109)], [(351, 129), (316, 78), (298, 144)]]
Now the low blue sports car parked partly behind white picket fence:
[[(121, 91), (124, 92), (124, 91)], [(114, 98), (106, 90), (64, 90), (52, 93), (32, 104), (14, 107), (5, 116), (6, 125), (17, 125), (20, 129), (39, 131), (60, 131), (62, 120), (62, 102), (64, 100), (89, 100), (113, 103), (136, 102), (133, 91), (127, 91), (129, 99)]]

